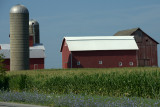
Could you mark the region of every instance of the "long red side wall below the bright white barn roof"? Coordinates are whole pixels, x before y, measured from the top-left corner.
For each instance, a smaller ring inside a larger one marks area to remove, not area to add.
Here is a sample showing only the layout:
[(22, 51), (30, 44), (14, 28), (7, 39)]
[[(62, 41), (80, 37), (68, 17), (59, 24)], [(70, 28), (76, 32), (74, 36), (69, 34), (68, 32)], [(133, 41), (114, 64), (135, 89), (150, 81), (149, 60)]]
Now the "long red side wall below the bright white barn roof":
[[(80, 65), (77, 62), (80, 61)], [(99, 64), (102, 61), (102, 64)], [(122, 66), (119, 63), (122, 62)], [(129, 63), (133, 62), (133, 66)], [(136, 51), (79, 51), (72, 52), (73, 68), (136, 67)]]

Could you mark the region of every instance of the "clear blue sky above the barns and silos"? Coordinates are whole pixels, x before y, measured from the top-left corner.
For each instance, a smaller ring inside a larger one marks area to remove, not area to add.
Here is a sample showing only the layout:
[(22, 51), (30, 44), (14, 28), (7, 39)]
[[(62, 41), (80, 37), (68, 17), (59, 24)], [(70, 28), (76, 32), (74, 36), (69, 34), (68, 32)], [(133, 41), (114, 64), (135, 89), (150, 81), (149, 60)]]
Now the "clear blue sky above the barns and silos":
[(64, 36), (111, 36), (140, 27), (160, 42), (160, 0), (0, 0), (0, 44), (10, 42), (9, 11), (16, 4), (25, 5), (40, 24), (46, 68), (61, 68)]

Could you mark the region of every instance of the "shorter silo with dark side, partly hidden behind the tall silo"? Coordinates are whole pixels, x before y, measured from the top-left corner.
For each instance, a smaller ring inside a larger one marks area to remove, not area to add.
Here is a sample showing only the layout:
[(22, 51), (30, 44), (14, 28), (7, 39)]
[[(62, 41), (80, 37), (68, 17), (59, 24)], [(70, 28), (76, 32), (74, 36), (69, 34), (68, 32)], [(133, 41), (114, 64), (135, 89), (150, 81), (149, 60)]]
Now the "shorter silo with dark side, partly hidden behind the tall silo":
[(39, 23), (36, 20), (29, 20), (29, 35), (33, 36), (34, 44), (40, 43), (39, 38)]

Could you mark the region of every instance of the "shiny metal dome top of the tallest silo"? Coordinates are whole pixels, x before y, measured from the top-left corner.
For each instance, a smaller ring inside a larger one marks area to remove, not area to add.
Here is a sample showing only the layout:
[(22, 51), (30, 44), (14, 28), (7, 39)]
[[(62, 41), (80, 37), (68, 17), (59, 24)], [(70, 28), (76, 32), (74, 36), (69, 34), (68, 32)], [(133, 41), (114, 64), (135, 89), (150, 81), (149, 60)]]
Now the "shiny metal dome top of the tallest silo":
[(17, 4), (10, 9), (10, 13), (29, 13), (24, 5)]

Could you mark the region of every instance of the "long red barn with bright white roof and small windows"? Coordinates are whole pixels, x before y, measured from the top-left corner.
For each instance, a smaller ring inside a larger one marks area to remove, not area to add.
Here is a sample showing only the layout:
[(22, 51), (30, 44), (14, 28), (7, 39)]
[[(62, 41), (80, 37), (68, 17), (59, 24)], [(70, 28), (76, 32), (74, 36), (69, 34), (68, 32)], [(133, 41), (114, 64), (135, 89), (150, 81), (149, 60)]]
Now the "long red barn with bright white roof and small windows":
[(136, 67), (133, 36), (64, 37), (62, 68)]

